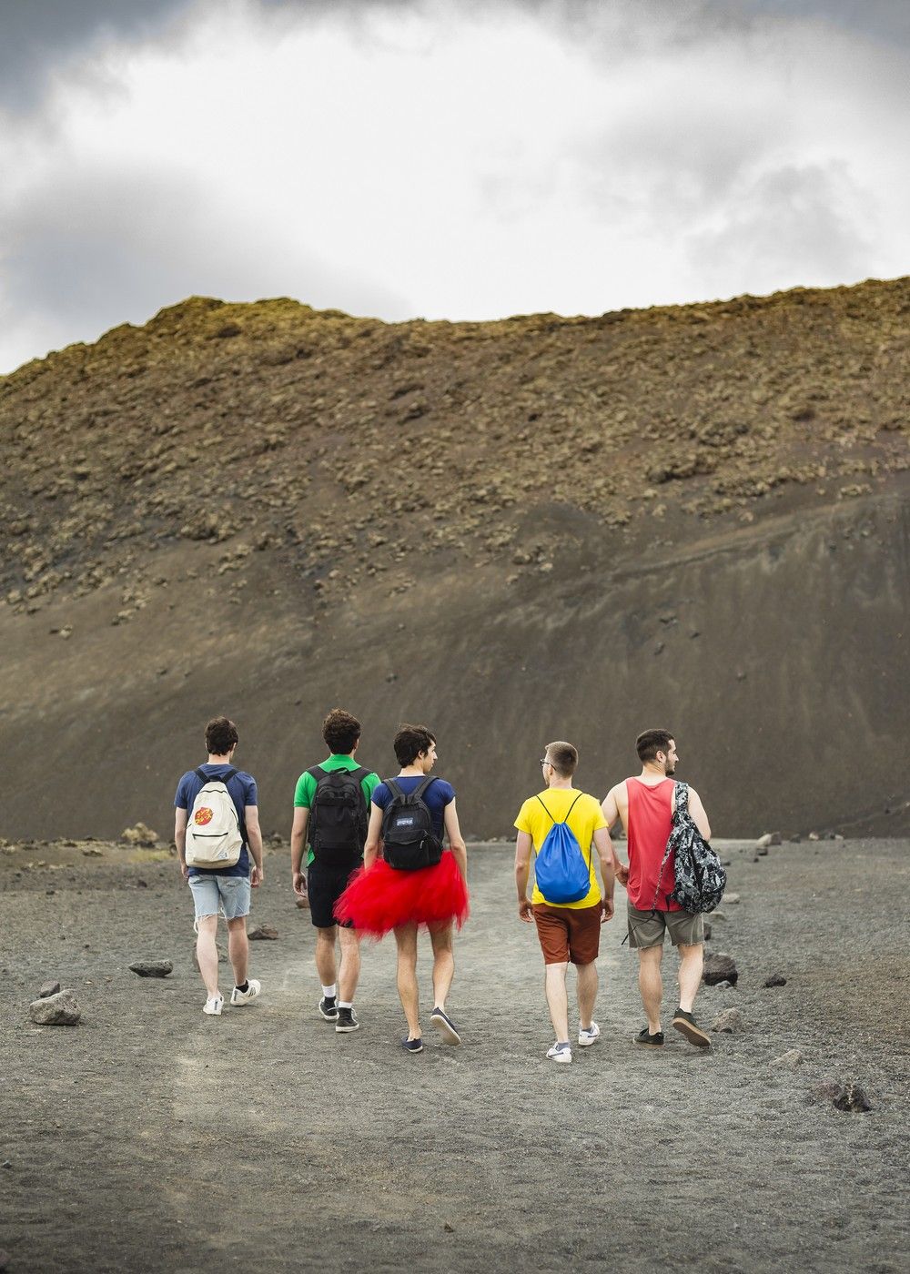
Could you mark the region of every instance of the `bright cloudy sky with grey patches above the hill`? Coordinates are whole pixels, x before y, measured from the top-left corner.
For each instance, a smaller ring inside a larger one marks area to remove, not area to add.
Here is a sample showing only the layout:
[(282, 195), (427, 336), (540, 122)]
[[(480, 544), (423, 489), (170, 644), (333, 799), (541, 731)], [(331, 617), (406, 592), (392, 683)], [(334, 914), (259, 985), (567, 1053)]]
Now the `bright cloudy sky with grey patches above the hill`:
[(910, 273), (907, 0), (0, 0), (0, 372), (190, 294), (493, 318)]

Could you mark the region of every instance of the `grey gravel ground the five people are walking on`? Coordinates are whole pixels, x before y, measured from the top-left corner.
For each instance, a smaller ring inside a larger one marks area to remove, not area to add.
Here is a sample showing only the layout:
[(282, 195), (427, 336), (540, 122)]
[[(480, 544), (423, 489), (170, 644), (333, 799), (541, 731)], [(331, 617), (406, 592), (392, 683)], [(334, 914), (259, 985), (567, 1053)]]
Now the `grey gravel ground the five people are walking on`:
[[(696, 1010), (710, 1026), (735, 1005), (747, 1028), (705, 1054), (670, 1029), (663, 1052), (633, 1046), (617, 920), (603, 1037), (563, 1068), (543, 1056), (542, 961), (507, 846), (469, 847), (450, 1001), (464, 1045), (413, 1057), (390, 941), (365, 950), (362, 1029), (317, 1017), (287, 851), (254, 894), (252, 922), (279, 931), (251, 947), (263, 998), (220, 1019), (200, 1013), (172, 862), (5, 852), (0, 1269), (905, 1270), (910, 957), (906, 907), (887, 899), (907, 897), (907, 843), (719, 845), (742, 901), (709, 949), (740, 976)], [(135, 977), (144, 957), (173, 975)], [(427, 995), (428, 967), (422, 947)], [(665, 968), (669, 984), (672, 952)], [(774, 972), (786, 985), (765, 989)], [(28, 1020), (48, 977), (75, 990), (78, 1027)], [(795, 1070), (771, 1065), (790, 1049)], [(836, 1111), (813, 1093), (828, 1079), (858, 1080), (872, 1111)]]

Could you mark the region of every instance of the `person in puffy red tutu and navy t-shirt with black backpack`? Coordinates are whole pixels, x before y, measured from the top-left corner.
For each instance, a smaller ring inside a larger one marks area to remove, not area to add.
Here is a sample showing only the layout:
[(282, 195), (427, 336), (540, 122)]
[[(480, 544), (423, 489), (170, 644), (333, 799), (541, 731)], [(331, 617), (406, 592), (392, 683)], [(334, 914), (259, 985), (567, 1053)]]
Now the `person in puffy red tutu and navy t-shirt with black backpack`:
[(375, 938), (394, 931), (398, 994), (408, 1019), (401, 1045), (407, 1052), (421, 1052), (417, 931), (422, 925), (433, 947), (430, 1020), (446, 1043), (461, 1042), (446, 1013), (446, 998), (455, 976), (452, 926), (460, 929), (468, 917), (468, 851), (455, 813), (455, 789), (430, 773), (436, 764), (436, 738), (426, 726), (403, 725), (394, 747), (401, 769), (372, 794), (363, 870), (339, 898), (335, 916)]

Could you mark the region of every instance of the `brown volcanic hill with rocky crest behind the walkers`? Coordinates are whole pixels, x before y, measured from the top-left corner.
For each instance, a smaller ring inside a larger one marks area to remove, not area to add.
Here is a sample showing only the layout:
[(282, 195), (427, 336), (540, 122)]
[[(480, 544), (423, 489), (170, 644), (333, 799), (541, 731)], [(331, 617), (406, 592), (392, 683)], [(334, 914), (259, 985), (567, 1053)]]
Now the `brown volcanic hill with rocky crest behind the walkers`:
[[(0, 834), (168, 832), (205, 720), (268, 831), (335, 703), (465, 832), (639, 730), (726, 836), (910, 829), (910, 279), (487, 324), (191, 298), (0, 378)], [(897, 761), (897, 763), (895, 763)]]

